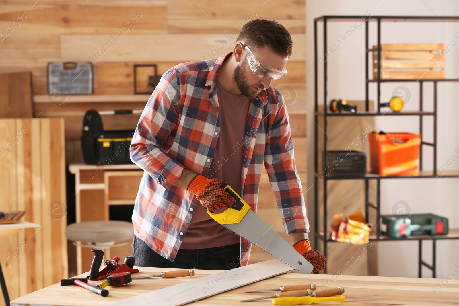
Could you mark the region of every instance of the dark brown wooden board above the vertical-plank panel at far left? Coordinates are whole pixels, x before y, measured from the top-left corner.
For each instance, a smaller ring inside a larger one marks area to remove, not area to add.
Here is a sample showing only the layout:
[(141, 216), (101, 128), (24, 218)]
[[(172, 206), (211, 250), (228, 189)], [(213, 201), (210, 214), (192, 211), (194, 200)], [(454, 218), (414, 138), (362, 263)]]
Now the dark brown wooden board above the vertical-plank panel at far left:
[(30, 72), (0, 74), (0, 118), (32, 117)]

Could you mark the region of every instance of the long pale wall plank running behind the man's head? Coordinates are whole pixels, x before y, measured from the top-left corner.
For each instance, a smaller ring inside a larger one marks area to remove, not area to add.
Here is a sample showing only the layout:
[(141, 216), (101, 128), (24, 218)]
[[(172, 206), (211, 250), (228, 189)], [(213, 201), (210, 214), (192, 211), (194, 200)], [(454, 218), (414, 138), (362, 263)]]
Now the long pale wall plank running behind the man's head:
[[(293, 54), (290, 60), (304, 61), (304, 34), (291, 36)], [(108, 40), (112, 46), (106, 47), (107, 51), (94, 56), (93, 52), (107, 45)], [(227, 41), (228, 38), (223, 34), (130, 34), (123, 37), (123, 43), (119, 44), (114, 39), (107, 39), (105, 35), (62, 35), (61, 50), (62, 61), (197, 61), (231, 52), (234, 45), (228, 44)], [(225, 46), (224, 42), (228, 45)]]

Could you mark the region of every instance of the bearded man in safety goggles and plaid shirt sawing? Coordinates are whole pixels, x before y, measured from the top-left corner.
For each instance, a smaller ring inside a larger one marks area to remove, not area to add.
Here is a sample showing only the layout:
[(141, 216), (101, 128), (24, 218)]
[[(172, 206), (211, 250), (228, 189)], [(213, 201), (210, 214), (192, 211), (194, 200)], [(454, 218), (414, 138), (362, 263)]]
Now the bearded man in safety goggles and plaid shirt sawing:
[(264, 163), (295, 249), (313, 273), (325, 267), (325, 257), (309, 245), (285, 101), (271, 86), (287, 73), (291, 53), (282, 25), (255, 19), (239, 33), (233, 52), (164, 73), (130, 146), (132, 161), (145, 170), (132, 215), (136, 265), (245, 266), (251, 243), (206, 209), (233, 205), (222, 187), (227, 182), (256, 211)]

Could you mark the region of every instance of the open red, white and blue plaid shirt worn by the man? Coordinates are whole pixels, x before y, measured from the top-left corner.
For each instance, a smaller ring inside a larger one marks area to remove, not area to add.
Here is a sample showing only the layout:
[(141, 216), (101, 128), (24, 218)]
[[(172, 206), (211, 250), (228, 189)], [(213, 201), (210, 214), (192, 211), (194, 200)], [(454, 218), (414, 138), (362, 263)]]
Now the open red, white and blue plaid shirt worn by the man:
[[(145, 170), (132, 214), (134, 234), (169, 261), (201, 205), (172, 184), (184, 168), (204, 176), (209, 172), (220, 131), (215, 80), (229, 55), (182, 63), (164, 73), (132, 139), (131, 160)], [(273, 86), (251, 100), (244, 140), (237, 146), (243, 150), (241, 197), (256, 212), (264, 163), (285, 232), (309, 232), (287, 109)], [(243, 238), (240, 244), (245, 266), (252, 244)]]

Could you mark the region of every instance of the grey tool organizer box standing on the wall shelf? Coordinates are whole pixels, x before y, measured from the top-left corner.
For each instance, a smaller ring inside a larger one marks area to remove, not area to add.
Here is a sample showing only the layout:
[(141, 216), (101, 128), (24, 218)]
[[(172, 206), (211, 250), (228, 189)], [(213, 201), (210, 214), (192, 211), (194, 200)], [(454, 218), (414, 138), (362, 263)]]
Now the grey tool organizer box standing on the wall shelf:
[(48, 63), (49, 95), (91, 95), (91, 63)]

